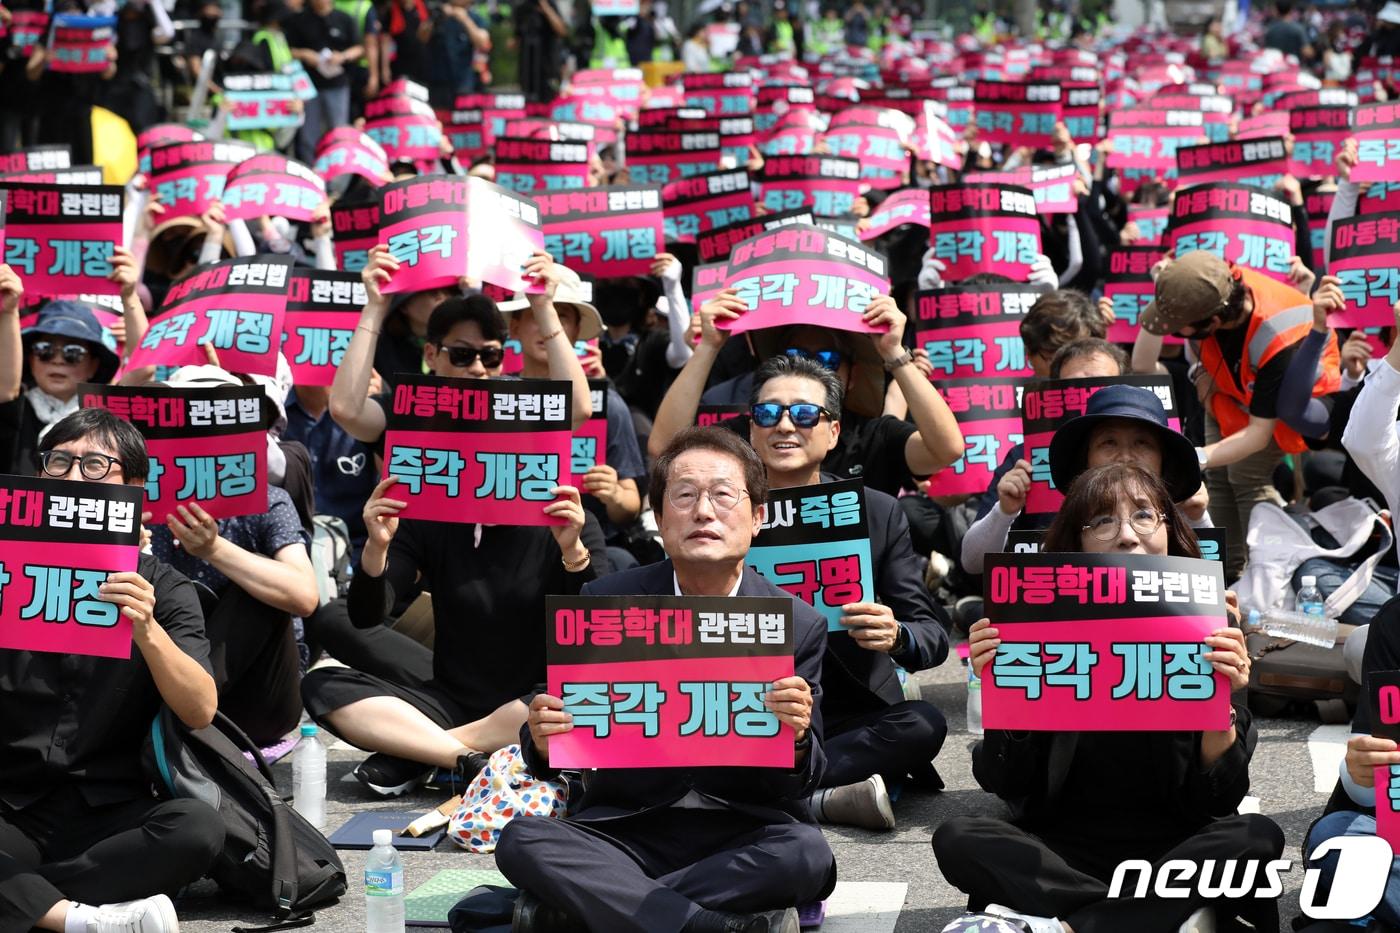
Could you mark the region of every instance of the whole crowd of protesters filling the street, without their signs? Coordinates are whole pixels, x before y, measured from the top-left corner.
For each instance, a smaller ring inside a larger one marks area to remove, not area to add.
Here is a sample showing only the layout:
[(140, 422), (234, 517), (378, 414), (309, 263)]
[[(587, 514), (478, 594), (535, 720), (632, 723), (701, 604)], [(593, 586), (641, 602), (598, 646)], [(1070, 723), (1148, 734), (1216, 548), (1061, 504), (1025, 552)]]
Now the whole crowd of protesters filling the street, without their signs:
[[(0, 469), (147, 486), (158, 468), (146, 438), (85, 405), (80, 385), (157, 377), (182, 389), (259, 387), (267, 461), (258, 514), (220, 518), (190, 502), (161, 521), (143, 517), (137, 569), (108, 577), (98, 597), (130, 619), (130, 660), (0, 649), (0, 933), (178, 929), (172, 898), (214, 862), (223, 827), (197, 800), (151, 797), (140, 754), (161, 705), (189, 728), (207, 727), (217, 709), (259, 745), (309, 719), (365, 752), (354, 776), (367, 801), (426, 783), (461, 790), (501, 749), (535, 779), (567, 783), (549, 748), (573, 719), (545, 689), (545, 626), (521, 621), (543, 621), (550, 595), (785, 597), (745, 560), (763, 503), (770, 492), (850, 481), (865, 488), (874, 597), (840, 607), (833, 626), (794, 597), (795, 674), (764, 695), (792, 731), (794, 768), (592, 772), (574, 786), (567, 815), (560, 806), (564, 818), (519, 817), (493, 836), (518, 897), (459, 911), (458, 929), (797, 930), (794, 908), (836, 883), (815, 824), (889, 831), (900, 792), (942, 789), (937, 759), (960, 751), (944, 748), (945, 712), (910, 678), (951, 654), (983, 675), (1002, 632), (987, 619), (981, 574), (1011, 535), (1043, 531), (1042, 548), (1061, 553), (1200, 558), (1215, 528), (1224, 577), (1240, 595), (1229, 597), (1231, 625), (1204, 639), (1201, 664), (1229, 685), (1228, 727), (988, 730), (973, 770), (1009, 815), (934, 827), (928, 870), (967, 894), (970, 913), (948, 930), (1172, 932), (1200, 911), (1214, 912), (1217, 929), (1278, 930), (1270, 898), (1114, 899), (1109, 881), (1124, 859), (1280, 857), (1278, 825), (1236, 813), (1250, 758), (1266, 754), (1256, 720), (1281, 702), (1254, 689), (1252, 671), (1268, 651), (1246, 643), (1242, 612), (1292, 607), (1305, 576), (1338, 604), (1351, 684), (1336, 699), (1355, 713), (1309, 849), (1375, 835), (1373, 769), (1400, 765), (1400, 745), (1373, 734), (1366, 702), (1368, 677), (1400, 665), (1393, 535), (1347, 549), (1341, 530), (1309, 521), (1338, 503), (1400, 507), (1400, 213), (1392, 213), (1400, 160), (1345, 130), (1324, 161), (1308, 163), (1292, 158), (1301, 139), (1288, 120), (1256, 129), (1289, 99), (1305, 101), (1295, 111), (1352, 113), (1393, 101), (1400, 3), (1324, 15), (1280, 0), (1266, 18), (1117, 38), (1106, 24), (1058, 18), (1036, 36), (998, 35), (988, 18), (948, 38), (911, 10), (862, 0), (820, 8), (778, 0), (771, 10), (741, 1), (693, 24), (678, 24), (664, 0), (633, 6), (623, 14), (596, 14), (585, 0), (0, 6), (0, 158), (13, 158), (0, 191), (13, 199), (27, 184), (63, 184), (45, 177), (55, 168), (95, 164), (108, 184), (125, 185), (126, 210), (122, 242), (105, 256), (119, 291), (111, 303), (36, 293), (43, 270), (25, 241), (11, 237), (6, 248)], [(109, 39), (97, 49), (101, 67), (55, 67), (57, 34), (76, 25)], [(1036, 81), (1039, 69), (1067, 91), (1095, 91), (1086, 122), (1065, 113), (1019, 144), (1023, 125), (1007, 136), (979, 119), (976, 102), (959, 104), (970, 94), (951, 94), (983, 80)], [(899, 136), (903, 167), (893, 177), (862, 175), (840, 216), (822, 216), (811, 193), (801, 205), (806, 223), (860, 238), (888, 261), (888, 290), (847, 307), (850, 326), (795, 319), (732, 332), (757, 297), (721, 282), (692, 301), (687, 293), (701, 287), (692, 276), (704, 265), (694, 235), (652, 249), (648, 275), (592, 280), (568, 256), (536, 251), (521, 266), (532, 287), (518, 296), (465, 275), (396, 289), (409, 261), (392, 242), (353, 265), (337, 248), (336, 205), (374, 202), (386, 184), (437, 175), (505, 184), (496, 136), (589, 141), (589, 188), (648, 181), (629, 164), (638, 120), (648, 109), (694, 106), (686, 78), (720, 71), (752, 78), (735, 84), (749, 88), (742, 115), (759, 113), (767, 88), (795, 91), (777, 108), (770, 101), (773, 119), (753, 120), (739, 153), (717, 154), (713, 167), (748, 172), (757, 221), (777, 213), (762, 196), (770, 160), (839, 154), (841, 125), (832, 120), (843, 111), (892, 115), (875, 119)], [(297, 119), (230, 127), (230, 88), (242, 76), (304, 80)], [(557, 108), (581, 106), (589, 98), (578, 88), (596, 81), (630, 83), (638, 95), (630, 108), (609, 104), (578, 136), (580, 123)], [(518, 105), (497, 106), (517, 94)], [(1197, 122), (1200, 143), (1277, 134), (1287, 146), (1246, 185), (1280, 206), (1282, 255), (1183, 248), (1159, 219), (1186, 203), (1186, 174), (1144, 174), (1116, 160), (1119, 113), (1205, 113), (1207, 99), (1225, 101), (1228, 118), (1219, 136)], [(396, 141), (361, 132), (367, 106), (381, 101), (427, 119), (437, 151), (399, 153)], [(916, 106), (900, 106), (909, 101)], [(491, 109), (517, 108), (498, 118), (519, 120), (515, 129), (487, 132)], [(477, 120), (465, 129), (482, 129), (472, 144), (449, 132), (463, 129), (455, 122), (463, 113)], [(112, 175), (109, 161), (134, 147), (101, 123), (108, 115), (144, 140), (140, 158), (127, 154), (130, 177)], [(276, 209), (228, 219), (218, 199), (197, 216), (165, 217), (174, 205), (148, 184), (153, 147), (225, 136), (325, 175), (328, 141), (344, 132), (379, 167), (323, 184), (328, 196), (309, 219)], [(43, 164), (53, 147), (66, 147), (62, 165)], [(1023, 172), (1019, 185), (1039, 170), (1063, 171), (1072, 207), (1037, 216), (1039, 245), (1012, 263), (1018, 276), (980, 249), (981, 268), (962, 263), (937, 216), (879, 227), (882, 206), (909, 192), (995, 182), (997, 172)], [(1366, 276), (1358, 284), (1331, 269), (1334, 230), (1368, 216), (1372, 235), (1389, 224), (1396, 241), (1378, 259), (1390, 277), (1372, 276), (1375, 294)], [(1106, 293), (1113, 258), (1127, 248), (1156, 251), (1144, 283), (1151, 301), (1131, 311)], [(332, 384), (298, 384), (284, 357), (272, 375), (230, 371), (213, 346), (207, 360), (168, 373), (133, 363), (162, 326), (165, 296), (232, 256), (358, 273), (365, 303)], [(952, 359), (918, 336), (920, 294), (979, 287), (1026, 296), (1011, 352), (1025, 368), (1022, 389), (1039, 380), (1110, 382), (1057, 430), (1046, 462), (1029, 436), (991, 451), (981, 436), (973, 444), (976, 419), (951, 405), (944, 384)], [(1382, 326), (1340, 324), (1382, 298), (1394, 305)], [(573, 429), (606, 399), (605, 457), (574, 485), (550, 488), (543, 524), (400, 517), (409, 506), (400, 478), (391, 469), (379, 479), (395, 388), (421, 375), (512, 378), (503, 371), (508, 357), (512, 375), (567, 385)], [(1173, 403), (1134, 375), (1165, 377)], [(591, 380), (606, 384), (592, 391)], [(742, 413), (694, 427), (711, 405)], [(984, 486), (939, 490), (941, 476), (962, 475), (979, 457)], [(1042, 474), (1065, 496), (1057, 511), (1030, 509)], [(332, 581), (328, 591), (312, 560), (322, 520), (346, 530), (339, 590)], [(1312, 534), (1316, 546), (1280, 556), (1268, 521), (1322, 531)], [(1141, 780), (1119, 779), (1126, 762), (1147, 765)], [(1334, 870), (1336, 859), (1322, 866)], [(1400, 929), (1400, 860), (1366, 922)]]

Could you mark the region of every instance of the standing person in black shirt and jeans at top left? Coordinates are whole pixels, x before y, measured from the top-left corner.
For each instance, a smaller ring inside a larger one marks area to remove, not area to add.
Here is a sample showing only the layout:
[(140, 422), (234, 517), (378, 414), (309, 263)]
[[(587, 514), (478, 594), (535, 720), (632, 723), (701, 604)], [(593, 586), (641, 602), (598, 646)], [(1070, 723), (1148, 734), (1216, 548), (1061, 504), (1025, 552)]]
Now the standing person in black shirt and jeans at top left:
[(305, 102), (305, 122), (297, 133), (297, 158), (309, 165), (321, 137), (350, 123), (346, 66), (360, 60), (364, 45), (354, 20), (336, 10), (332, 0), (311, 0), (305, 10), (287, 18), (283, 31), (291, 56), (307, 67), (316, 85), (316, 98)]

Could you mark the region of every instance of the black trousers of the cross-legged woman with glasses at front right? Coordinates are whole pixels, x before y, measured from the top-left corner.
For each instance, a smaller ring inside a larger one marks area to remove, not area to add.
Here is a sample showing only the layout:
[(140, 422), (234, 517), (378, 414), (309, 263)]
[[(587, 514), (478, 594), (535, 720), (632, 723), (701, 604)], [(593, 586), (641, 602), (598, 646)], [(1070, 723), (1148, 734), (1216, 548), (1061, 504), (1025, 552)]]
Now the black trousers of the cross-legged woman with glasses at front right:
[[(1226, 817), (1166, 850), (1147, 849), (1047, 842), (991, 817), (953, 817), (934, 832), (938, 867), (949, 884), (967, 894), (973, 911), (1000, 904), (1022, 913), (1060, 918), (1075, 933), (1175, 933), (1191, 913), (1211, 906), (1222, 916), (1249, 920), (1260, 933), (1278, 933), (1275, 898), (1208, 901), (1193, 887), (1186, 898), (1159, 898), (1149, 888), (1142, 898), (1128, 894), (1109, 899), (1113, 869), (1126, 859), (1147, 859), (1154, 866), (1168, 859), (1197, 864), (1204, 859), (1215, 859), (1217, 864), (1224, 859), (1277, 859), (1284, 850), (1284, 832), (1273, 820), (1259, 814)], [(1137, 873), (1128, 883), (1137, 883)], [(1264, 883), (1260, 864), (1256, 884)]]

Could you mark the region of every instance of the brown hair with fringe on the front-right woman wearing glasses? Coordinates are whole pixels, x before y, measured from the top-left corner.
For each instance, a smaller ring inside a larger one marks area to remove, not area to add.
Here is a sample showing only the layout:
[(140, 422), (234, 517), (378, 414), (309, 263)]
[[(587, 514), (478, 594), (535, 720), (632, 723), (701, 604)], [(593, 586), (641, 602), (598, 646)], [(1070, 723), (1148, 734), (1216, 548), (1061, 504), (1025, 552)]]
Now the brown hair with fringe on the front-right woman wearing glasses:
[(1046, 530), (1042, 552), (1084, 551), (1079, 532), (1098, 516), (1117, 513), (1124, 493), (1145, 493), (1152, 507), (1166, 516), (1166, 553), (1173, 558), (1200, 558), (1201, 545), (1186, 517), (1172, 502), (1162, 481), (1137, 464), (1106, 464), (1079, 474), (1070, 486), (1058, 514)]

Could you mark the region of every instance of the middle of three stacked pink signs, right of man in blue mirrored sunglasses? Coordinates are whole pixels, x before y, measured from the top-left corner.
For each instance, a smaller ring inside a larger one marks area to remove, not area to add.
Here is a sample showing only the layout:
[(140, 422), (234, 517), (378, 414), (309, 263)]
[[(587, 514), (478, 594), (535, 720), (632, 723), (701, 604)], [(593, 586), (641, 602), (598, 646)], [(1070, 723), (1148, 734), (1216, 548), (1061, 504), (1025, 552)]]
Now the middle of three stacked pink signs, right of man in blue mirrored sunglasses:
[(1021, 321), (1042, 294), (1037, 286), (1001, 283), (916, 293), (914, 346), (928, 354), (930, 378), (1032, 375)]

